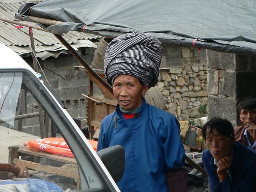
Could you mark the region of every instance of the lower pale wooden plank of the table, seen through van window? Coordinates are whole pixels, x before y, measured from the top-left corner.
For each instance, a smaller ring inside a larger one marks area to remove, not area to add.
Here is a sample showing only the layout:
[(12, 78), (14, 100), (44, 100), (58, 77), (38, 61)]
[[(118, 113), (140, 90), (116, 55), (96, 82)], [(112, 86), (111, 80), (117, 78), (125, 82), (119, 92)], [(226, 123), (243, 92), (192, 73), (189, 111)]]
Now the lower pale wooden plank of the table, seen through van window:
[(26, 168), (28, 168), (28, 169), (44, 171), (44, 172), (47, 172), (50, 174), (56, 174), (56, 175), (61, 175), (61, 176), (65, 176), (65, 177), (70, 177), (70, 178), (73, 178), (76, 180), (78, 179), (78, 172), (76, 172), (76, 171), (66, 170), (66, 169), (63, 169), (60, 167), (54, 167), (54, 166), (50, 166), (50, 165), (40, 165), (39, 163), (22, 160), (22, 159), (18, 159), (18, 158), (14, 159), (14, 164), (16, 164), (16, 163), (20, 163), (20, 164), (26, 166)]

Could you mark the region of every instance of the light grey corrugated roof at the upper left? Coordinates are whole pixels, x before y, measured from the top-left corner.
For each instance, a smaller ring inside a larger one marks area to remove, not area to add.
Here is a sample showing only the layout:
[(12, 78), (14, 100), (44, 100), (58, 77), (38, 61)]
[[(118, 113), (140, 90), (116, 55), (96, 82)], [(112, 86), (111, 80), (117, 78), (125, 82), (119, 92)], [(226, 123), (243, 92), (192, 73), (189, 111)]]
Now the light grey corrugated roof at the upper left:
[[(0, 17), (9, 19), (12, 21), (17, 21), (24, 24), (30, 24), (35, 26), (35, 23), (30, 23), (26, 21), (18, 21), (14, 18), (14, 14), (18, 13), (18, 8), (22, 4), (28, 1), (16, 2), (16, 3), (2, 3), (0, 2)], [(29, 1), (31, 2), (31, 1)], [(40, 1), (34, 1), (33, 3), (39, 3)], [(29, 53), (30, 49), (26, 48), (22, 50), (22, 47), (30, 46), (30, 38), (28, 37), (28, 27), (16, 28), (17, 24), (0, 20), (0, 43), (10, 46), (18, 54)], [(39, 26), (36, 26), (39, 27)], [(56, 44), (62, 44), (52, 33), (44, 32), (41, 30), (33, 29), (34, 44), (39, 50), (44, 51), (54, 51), (56, 49)], [(74, 45), (76, 48), (79, 47), (96, 47), (92, 42), (87, 44), (82, 44), (80, 40), (92, 40), (100, 38), (93, 34), (86, 34), (82, 32), (70, 31), (68, 34), (63, 34), (63, 38), (69, 43)], [(18, 46), (18, 47), (16, 47)], [(63, 45), (62, 45), (63, 46)], [(16, 48), (15, 48), (16, 47)], [(63, 49), (64, 46), (63, 46)], [(20, 51), (19, 51), (20, 50)]]

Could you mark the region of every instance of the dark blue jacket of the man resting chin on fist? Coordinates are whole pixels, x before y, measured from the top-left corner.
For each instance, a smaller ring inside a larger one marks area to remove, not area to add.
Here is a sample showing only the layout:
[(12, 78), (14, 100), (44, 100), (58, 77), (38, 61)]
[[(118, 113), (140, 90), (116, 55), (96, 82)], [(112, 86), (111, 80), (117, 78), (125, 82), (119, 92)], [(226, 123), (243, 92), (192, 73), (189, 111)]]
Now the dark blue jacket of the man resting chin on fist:
[(231, 178), (222, 182), (217, 174), (217, 166), (208, 149), (204, 150), (202, 161), (208, 175), (211, 192), (256, 192), (256, 151), (239, 142), (234, 143)]

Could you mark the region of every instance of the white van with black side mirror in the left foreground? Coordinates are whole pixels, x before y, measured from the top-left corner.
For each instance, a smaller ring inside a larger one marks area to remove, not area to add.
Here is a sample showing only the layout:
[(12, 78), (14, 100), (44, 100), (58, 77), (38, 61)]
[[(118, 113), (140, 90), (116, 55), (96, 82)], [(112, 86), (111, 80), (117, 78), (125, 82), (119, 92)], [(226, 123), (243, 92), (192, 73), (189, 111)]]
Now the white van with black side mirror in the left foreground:
[[(100, 154), (104, 156), (106, 163), (111, 162), (110, 166), (106, 168), (105, 162), (105, 165), (102, 162), (104, 160), (101, 160), (72, 117), (62, 108), (62, 104), (58, 102), (55, 93), (50, 91), (41, 79), (42, 76), (36, 73), (18, 54), (3, 44), (0, 44), (0, 58), (0, 129), (2, 126), (14, 128), (18, 119), (18, 97), (22, 90), (29, 96), (29, 99), (36, 100), (42, 106), (44, 112), (51, 120), (54, 120), (61, 131), (61, 135), (66, 140), (78, 164), (81, 182), (79, 190), (84, 192), (119, 192), (116, 182), (122, 178), (123, 170), (116, 168), (116, 166), (120, 161), (124, 165), (123, 148), (116, 146), (114, 152), (108, 149), (108, 152)], [(10, 145), (12, 144), (10, 143)], [(121, 157), (122, 160), (116, 159), (115, 162), (114, 155)], [(114, 174), (111, 174), (113, 177), (108, 171), (111, 169), (116, 170)], [(43, 179), (43, 176), (40, 178)], [(49, 178), (47, 178), (48, 181)], [(65, 187), (63, 191), (70, 188), (68, 182), (66, 182)], [(76, 191), (77, 189), (72, 190)]]

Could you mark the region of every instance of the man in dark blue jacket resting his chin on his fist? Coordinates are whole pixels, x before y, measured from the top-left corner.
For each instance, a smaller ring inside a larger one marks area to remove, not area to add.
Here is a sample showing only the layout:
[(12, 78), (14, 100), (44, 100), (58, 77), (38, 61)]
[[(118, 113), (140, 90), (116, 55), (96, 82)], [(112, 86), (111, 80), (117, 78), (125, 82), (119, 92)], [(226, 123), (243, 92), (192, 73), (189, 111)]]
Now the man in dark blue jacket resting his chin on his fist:
[(211, 192), (256, 192), (256, 151), (235, 142), (232, 124), (212, 118), (202, 128), (202, 161)]

